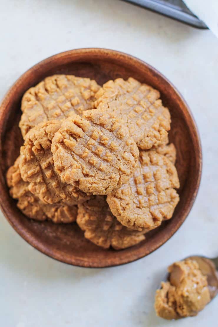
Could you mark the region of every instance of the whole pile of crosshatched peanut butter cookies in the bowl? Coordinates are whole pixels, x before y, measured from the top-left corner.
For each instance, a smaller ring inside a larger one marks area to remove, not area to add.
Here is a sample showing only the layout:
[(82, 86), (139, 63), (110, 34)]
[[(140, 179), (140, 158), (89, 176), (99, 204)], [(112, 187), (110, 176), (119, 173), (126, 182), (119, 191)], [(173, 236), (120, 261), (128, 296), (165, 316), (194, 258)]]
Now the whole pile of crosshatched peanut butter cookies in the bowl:
[(179, 201), (170, 113), (159, 97), (131, 77), (100, 87), (54, 75), (30, 88), (21, 104), (24, 145), (7, 172), (18, 208), (35, 220), (76, 221), (103, 248), (144, 240)]

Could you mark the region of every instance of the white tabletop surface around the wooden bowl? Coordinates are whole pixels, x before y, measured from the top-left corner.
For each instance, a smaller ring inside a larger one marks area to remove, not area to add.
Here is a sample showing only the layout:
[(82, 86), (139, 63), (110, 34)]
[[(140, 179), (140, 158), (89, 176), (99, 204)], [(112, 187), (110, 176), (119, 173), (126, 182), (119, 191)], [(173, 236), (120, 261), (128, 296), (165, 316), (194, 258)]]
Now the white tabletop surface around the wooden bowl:
[(0, 220), (0, 326), (217, 326), (218, 298), (195, 318), (168, 322), (153, 309), (155, 289), (175, 260), (218, 255), (218, 41), (118, 0), (1, 1), (0, 97), (25, 70), (55, 53), (106, 47), (130, 53), (168, 77), (189, 103), (203, 145), (203, 176), (193, 210), (149, 256), (108, 269), (47, 258)]

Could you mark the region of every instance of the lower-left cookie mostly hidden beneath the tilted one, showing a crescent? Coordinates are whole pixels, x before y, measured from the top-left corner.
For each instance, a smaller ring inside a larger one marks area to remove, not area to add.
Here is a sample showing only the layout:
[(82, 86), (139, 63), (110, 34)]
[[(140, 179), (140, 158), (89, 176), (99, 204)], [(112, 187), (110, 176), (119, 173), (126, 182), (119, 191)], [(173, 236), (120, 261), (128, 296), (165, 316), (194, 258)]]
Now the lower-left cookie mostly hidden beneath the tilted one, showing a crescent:
[(76, 220), (77, 206), (65, 204), (44, 204), (28, 189), (28, 182), (21, 178), (19, 169), (20, 157), (8, 169), (7, 183), (10, 195), (18, 199), (17, 207), (29, 218), (35, 220), (52, 220), (54, 223), (70, 223)]

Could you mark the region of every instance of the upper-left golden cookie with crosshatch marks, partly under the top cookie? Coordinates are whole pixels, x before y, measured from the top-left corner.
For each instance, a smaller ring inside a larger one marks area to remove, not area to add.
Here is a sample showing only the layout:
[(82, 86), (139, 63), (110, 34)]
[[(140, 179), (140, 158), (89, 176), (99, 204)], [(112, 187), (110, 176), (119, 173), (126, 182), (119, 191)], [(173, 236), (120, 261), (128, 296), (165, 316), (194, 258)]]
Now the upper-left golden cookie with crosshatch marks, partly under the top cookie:
[(23, 137), (29, 129), (48, 120), (61, 120), (72, 113), (93, 108), (100, 86), (90, 78), (54, 75), (26, 91), (21, 103), (19, 127)]

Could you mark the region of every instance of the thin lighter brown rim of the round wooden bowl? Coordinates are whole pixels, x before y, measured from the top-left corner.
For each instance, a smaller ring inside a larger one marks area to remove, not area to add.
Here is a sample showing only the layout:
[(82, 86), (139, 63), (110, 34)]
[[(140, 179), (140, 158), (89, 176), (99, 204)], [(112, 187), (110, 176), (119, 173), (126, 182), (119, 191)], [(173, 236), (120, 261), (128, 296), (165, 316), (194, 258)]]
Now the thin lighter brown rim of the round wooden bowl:
[[(46, 246), (44, 246), (40, 241), (37, 240), (36, 237), (33, 237), (30, 233), (28, 233), (28, 231), (21, 228), (21, 225), (19, 223), (17, 223), (16, 218), (11, 215), (8, 216), (8, 209), (6, 206), (7, 201), (4, 200), (4, 181), (1, 179), (0, 180), (0, 208), (3, 212), (3, 214), (5, 215), (6, 219), (8, 220), (9, 224), (13, 227), (13, 229), (30, 245), (32, 245), (35, 249), (39, 250), (40, 252), (44, 253), (45, 255), (56, 259), (58, 261), (61, 261), (63, 263), (66, 264), (70, 264), (70, 265), (74, 265), (74, 266), (78, 266), (78, 267), (89, 267), (89, 268), (103, 268), (103, 267), (114, 267), (114, 266), (120, 266), (120, 265), (124, 265), (136, 260), (139, 260), (141, 258), (143, 258), (144, 256), (154, 252), (155, 250), (157, 250), (160, 246), (162, 246), (164, 243), (166, 243), (174, 234), (175, 232), (179, 229), (179, 227), (182, 225), (182, 223), (185, 221), (185, 219), (187, 218), (188, 214), (190, 213), (193, 203), (195, 201), (195, 198), (197, 196), (198, 193), (198, 189), (199, 189), (199, 185), (200, 185), (200, 181), (201, 181), (201, 174), (202, 174), (202, 147), (201, 147), (201, 141), (200, 141), (200, 136), (199, 136), (199, 132), (197, 129), (197, 125), (195, 123), (195, 120), (193, 118), (192, 112), (188, 106), (188, 104), (186, 103), (185, 99), (183, 98), (183, 96), (178, 92), (178, 90), (176, 89), (176, 87), (164, 76), (162, 75), (157, 69), (155, 69), (153, 66), (149, 65), (148, 63), (144, 62), (143, 60), (140, 60), (132, 55), (126, 54), (124, 52), (120, 52), (120, 51), (116, 51), (116, 50), (111, 50), (111, 49), (106, 49), (106, 48), (78, 48), (78, 49), (74, 49), (74, 50), (68, 50), (68, 51), (64, 51), (58, 54), (55, 54), (51, 57), (48, 57), (40, 62), (38, 62), (37, 64), (35, 64), (34, 66), (32, 66), (31, 68), (29, 68), (24, 74), (22, 74), (16, 81), (15, 83), (10, 87), (10, 89), (8, 90), (8, 92), (5, 94), (5, 96), (3, 97), (3, 100), (0, 104), (0, 131), (2, 133), (2, 125), (5, 119), (5, 116), (7, 114), (6, 112), (6, 108), (7, 105), (9, 103), (11, 94), (13, 94), (16, 89), (19, 87), (19, 85), (30, 75), (34, 74), (34, 72), (38, 69), (42, 69), (43, 66), (46, 66), (49, 62), (53, 61), (53, 60), (57, 60), (57, 59), (61, 59), (61, 58), (66, 58), (69, 57), (69, 59), (74, 59), (77, 58), (81, 58), (81, 59), (86, 59), (88, 58), (90, 55), (92, 55), (92, 58), (99, 57), (99, 56), (103, 56), (102, 59), (109, 59), (109, 60), (114, 60), (114, 57), (116, 56), (116, 60), (117, 57), (120, 58), (121, 60), (127, 60), (131, 65), (133, 65), (133, 63), (135, 65), (143, 65), (146, 66), (146, 68), (148, 68), (150, 71), (152, 71), (154, 73), (154, 75), (159, 76), (160, 78), (162, 78), (176, 93), (176, 95), (178, 96), (178, 98), (180, 98), (181, 102), (184, 105), (184, 109), (187, 113), (187, 116), (189, 117), (189, 121), (186, 122), (189, 125), (189, 129), (190, 131), (192, 131), (192, 134), (196, 136), (196, 142), (197, 142), (197, 146), (196, 146), (196, 155), (199, 158), (198, 161), (198, 177), (196, 180), (196, 185), (195, 185), (195, 189), (194, 192), (190, 198), (189, 201), (189, 205), (188, 207), (185, 209), (182, 218), (179, 220), (179, 222), (173, 226), (172, 230), (170, 233), (168, 233), (167, 235), (165, 235), (164, 238), (162, 238), (159, 242), (156, 242), (155, 245), (153, 245), (153, 247), (151, 248), (150, 251), (148, 251), (148, 253), (144, 253), (142, 255), (135, 255), (135, 257), (133, 259), (123, 259), (122, 261), (120, 261), (119, 263), (114, 263), (114, 264), (109, 264), (109, 265), (92, 265), (90, 264), (90, 262), (86, 261), (85, 259), (81, 260), (80, 258), (75, 258), (75, 257), (71, 257), (69, 258), (64, 258), (63, 255), (56, 251), (53, 252), (50, 249), (48, 249)], [(0, 135), (1, 137), (2, 135)], [(1, 157), (1, 153), (2, 153), (2, 148), (0, 145), (0, 157)], [(131, 248), (130, 248), (131, 249)], [(121, 250), (122, 251), (122, 250)]]

